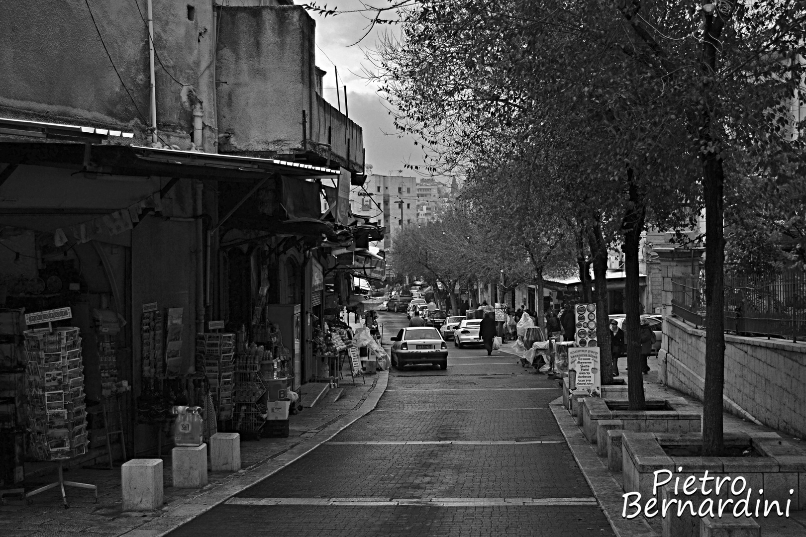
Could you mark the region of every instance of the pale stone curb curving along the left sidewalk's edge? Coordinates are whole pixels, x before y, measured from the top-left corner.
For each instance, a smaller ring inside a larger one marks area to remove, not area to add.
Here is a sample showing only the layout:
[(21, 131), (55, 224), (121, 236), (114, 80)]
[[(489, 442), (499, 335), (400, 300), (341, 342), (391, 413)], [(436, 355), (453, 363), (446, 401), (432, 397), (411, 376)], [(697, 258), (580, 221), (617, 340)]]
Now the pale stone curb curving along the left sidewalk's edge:
[(160, 518), (133, 528), (120, 535), (120, 537), (163, 537), (168, 535), (185, 523), (189, 523), (193, 518), (205, 514), (215, 506), (226, 502), (235, 494), (243, 492), (243, 490), (256, 485), (256, 483), (263, 481), (267, 477), (271, 477), (294, 461), (314, 451), (314, 449), (350, 427), (355, 421), (363, 418), (364, 415), (367, 415), (377, 406), (381, 395), (386, 390), (389, 378), (388, 371), (379, 371), (377, 374), (378, 379), (375, 387), (370, 390), (366, 399), (364, 399), (364, 403), (361, 403), (354, 411), (337, 419), (334, 423), (330, 423), (326, 428), (301, 441), (288, 451), (280, 452), (278, 456), (260, 463), (256, 468), (243, 474), (234, 474), (240, 476), (234, 479), (234, 482), (219, 485), (209, 492), (190, 498), (186, 502), (177, 502), (176, 507), (164, 511)]

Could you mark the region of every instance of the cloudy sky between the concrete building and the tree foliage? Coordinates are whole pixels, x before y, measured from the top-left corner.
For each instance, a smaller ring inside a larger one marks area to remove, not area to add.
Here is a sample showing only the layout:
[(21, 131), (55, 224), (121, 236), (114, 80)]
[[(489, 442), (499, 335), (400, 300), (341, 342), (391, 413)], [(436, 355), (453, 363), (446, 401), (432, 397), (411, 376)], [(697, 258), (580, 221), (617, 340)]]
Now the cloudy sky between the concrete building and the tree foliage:
[[(385, 0), (375, 0), (376, 5), (386, 5)], [(297, 0), (297, 3), (302, 3)], [(324, 3), (324, 2), (322, 2)], [(321, 5), (321, 4), (320, 4)], [(359, 10), (359, 0), (336, 2), (339, 10)], [(328, 2), (332, 7), (332, 2)], [(372, 164), (372, 173), (387, 175), (394, 170), (404, 170), (404, 176), (418, 176), (413, 170), (406, 170), (404, 163), (422, 164), (422, 150), (414, 146), (411, 136), (397, 136), (388, 114), (388, 103), (377, 93), (377, 87), (366, 80), (365, 68), (372, 64), (366, 57), (367, 50), (375, 50), (380, 32), (397, 28), (384, 25), (376, 27), (359, 44), (355, 43), (367, 31), (369, 13), (346, 13), (335, 17), (322, 17), (309, 11), (316, 21), (316, 64), (327, 74), (324, 80), (324, 97), (331, 105), (338, 106), (334, 78), (334, 64), (339, 69), (339, 86), (347, 85), (347, 105), (350, 118), (364, 129), (364, 147), (367, 150), (367, 163)], [(344, 90), (340, 90), (341, 109), (344, 111)], [(385, 134), (384, 134), (385, 133)]]

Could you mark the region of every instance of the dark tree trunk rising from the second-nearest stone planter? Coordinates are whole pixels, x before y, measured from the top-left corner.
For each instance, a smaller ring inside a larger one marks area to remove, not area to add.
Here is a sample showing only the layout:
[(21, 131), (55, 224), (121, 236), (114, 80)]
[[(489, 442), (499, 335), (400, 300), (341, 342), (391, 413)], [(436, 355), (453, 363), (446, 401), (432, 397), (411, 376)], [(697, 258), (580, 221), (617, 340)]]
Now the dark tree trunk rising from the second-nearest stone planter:
[(644, 204), (639, 199), (638, 187), (633, 182), (633, 171), (627, 171), (629, 176), (629, 200), (632, 209), (625, 215), (622, 227), (624, 236), (624, 306), (626, 319), (624, 320), (624, 337), (627, 345), (627, 395), (629, 410), (642, 411), (646, 408), (644, 399), (643, 363), (641, 360), (641, 305), (638, 299), (638, 246), (641, 242), (641, 232), (644, 227)]

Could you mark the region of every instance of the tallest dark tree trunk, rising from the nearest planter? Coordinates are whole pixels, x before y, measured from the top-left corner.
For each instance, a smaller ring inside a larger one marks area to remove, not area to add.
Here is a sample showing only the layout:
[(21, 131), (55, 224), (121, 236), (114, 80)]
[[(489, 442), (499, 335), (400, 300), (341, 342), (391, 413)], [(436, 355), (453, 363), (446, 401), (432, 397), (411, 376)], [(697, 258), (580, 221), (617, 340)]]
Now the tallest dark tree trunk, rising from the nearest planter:
[(705, 105), (700, 127), (700, 155), (703, 165), (705, 205), (705, 386), (703, 390), (703, 456), (720, 456), (724, 445), (722, 432), (722, 394), (725, 389), (724, 270), (725, 233), (722, 229), (725, 174), (713, 136), (713, 103), (709, 80), (716, 72), (717, 45), (724, 22), (719, 10), (705, 14), (700, 70)]

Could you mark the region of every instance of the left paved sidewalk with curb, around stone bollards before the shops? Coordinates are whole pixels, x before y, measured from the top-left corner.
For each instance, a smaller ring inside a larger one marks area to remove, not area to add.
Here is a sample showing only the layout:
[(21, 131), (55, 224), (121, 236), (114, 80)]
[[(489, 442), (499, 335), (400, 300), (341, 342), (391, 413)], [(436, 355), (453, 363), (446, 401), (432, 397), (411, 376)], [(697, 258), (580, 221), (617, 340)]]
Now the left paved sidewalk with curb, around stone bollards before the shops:
[[(330, 440), (356, 419), (372, 411), (386, 390), (388, 372), (350, 378), (345, 364), (340, 390), (332, 390), (313, 408), (290, 417), (288, 438), (241, 441), (239, 473), (210, 472), (203, 489), (174, 489), (171, 460), (164, 457), (164, 506), (162, 510), (124, 513), (121, 498), (121, 470), (73, 467), (64, 478), (98, 485), (98, 503), (92, 491), (67, 487), (69, 509), (64, 509), (58, 489), (31, 498), (33, 503), (7, 496), (0, 506), (0, 535), (3, 537), (160, 537), (212, 509), (258, 481), (290, 465), (320, 444)], [(338, 399), (336, 399), (338, 397)], [(54, 466), (55, 468), (55, 466)], [(35, 477), (27, 483), (33, 489), (56, 480), (56, 472)]]

